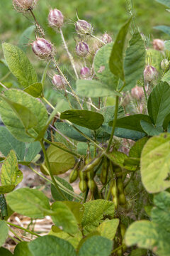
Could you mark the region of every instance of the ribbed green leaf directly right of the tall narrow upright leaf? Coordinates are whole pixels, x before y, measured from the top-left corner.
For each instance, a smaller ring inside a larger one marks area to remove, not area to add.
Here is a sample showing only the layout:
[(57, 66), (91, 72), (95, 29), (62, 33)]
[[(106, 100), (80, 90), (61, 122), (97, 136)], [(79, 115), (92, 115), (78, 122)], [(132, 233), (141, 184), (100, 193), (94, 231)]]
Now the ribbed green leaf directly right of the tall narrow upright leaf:
[(145, 68), (146, 50), (145, 43), (139, 32), (133, 34), (130, 40), (130, 46), (125, 53), (125, 89), (131, 90), (136, 82), (143, 75)]

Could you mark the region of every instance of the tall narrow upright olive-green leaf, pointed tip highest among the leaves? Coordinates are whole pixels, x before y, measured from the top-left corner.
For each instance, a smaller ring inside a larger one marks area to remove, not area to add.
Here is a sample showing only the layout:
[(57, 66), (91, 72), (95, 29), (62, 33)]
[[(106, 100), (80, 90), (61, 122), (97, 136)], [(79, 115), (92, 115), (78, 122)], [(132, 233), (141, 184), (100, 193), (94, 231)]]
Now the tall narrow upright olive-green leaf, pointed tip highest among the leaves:
[(131, 18), (127, 23), (120, 29), (118, 36), (115, 39), (113, 44), (111, 57), (109, 60), (109, 67), (111, 72), (120, 78), (121, 80), (125, 79), (124, 70), (123, 70), (123, 53), (125, 48), (125, 39), (128, 34)]

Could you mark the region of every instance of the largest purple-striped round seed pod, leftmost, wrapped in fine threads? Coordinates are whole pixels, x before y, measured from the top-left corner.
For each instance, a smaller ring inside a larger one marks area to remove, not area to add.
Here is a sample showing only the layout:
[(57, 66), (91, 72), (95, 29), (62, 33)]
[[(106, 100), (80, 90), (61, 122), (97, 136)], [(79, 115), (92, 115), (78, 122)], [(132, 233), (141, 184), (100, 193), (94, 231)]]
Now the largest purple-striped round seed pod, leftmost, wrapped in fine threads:
[(49, 60), (55, 54), (55, 48), (50, 41), (37, 38), (32, 43), (33, 52), (42, 60)]

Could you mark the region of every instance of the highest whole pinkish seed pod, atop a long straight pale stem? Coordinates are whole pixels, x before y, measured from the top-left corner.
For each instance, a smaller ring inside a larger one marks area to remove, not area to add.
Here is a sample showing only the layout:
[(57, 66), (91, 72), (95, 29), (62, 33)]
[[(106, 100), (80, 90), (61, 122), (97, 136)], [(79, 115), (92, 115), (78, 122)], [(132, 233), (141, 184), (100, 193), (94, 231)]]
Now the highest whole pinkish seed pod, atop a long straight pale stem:
[(63, 21), (64, 16), (62, 15), (61, 11), (57, 9), (50, 10), (50, 13), (48, 15), (48, 23), (51, 27), (61, 28), (63, 25)]

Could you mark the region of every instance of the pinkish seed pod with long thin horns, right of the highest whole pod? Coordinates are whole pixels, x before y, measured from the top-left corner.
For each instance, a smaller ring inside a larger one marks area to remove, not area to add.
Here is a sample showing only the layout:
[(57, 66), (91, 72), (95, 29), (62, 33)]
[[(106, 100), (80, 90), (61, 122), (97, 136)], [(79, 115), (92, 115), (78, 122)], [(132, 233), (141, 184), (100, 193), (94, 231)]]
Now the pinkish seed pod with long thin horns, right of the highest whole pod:
[(75, 23), (75, 28), (77, 33), (81, 36), (90, 35), (93, 31), (91, 24), (84, 20), (78, 20)]

